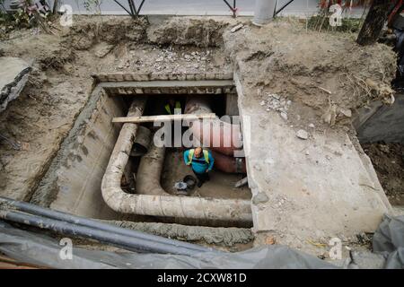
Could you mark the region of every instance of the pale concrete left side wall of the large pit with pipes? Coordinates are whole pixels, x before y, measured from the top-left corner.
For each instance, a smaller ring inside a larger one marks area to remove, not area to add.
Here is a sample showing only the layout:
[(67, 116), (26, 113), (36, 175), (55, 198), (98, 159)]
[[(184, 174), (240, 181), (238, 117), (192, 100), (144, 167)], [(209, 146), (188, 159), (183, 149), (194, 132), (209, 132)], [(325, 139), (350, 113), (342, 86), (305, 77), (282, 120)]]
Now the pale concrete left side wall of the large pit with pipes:
[(118, 219), (101, 196), (101, 179), (121, 125), (112, 117), (125, 116), (123, 100), (96, 88), (52, 162), (33, 203), (85, 217)]

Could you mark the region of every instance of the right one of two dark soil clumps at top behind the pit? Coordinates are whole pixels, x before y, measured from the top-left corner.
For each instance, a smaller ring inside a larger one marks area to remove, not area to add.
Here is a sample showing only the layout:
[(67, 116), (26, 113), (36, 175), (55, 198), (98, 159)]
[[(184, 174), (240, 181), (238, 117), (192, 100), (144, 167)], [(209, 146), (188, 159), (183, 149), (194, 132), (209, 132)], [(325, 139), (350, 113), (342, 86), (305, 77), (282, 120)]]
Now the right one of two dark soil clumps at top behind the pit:
[(218, 47), (223, 44), (222, 35), (227, 25), (212, 19), (170, 18), (147, 30), (147, 38), (154, 44)]

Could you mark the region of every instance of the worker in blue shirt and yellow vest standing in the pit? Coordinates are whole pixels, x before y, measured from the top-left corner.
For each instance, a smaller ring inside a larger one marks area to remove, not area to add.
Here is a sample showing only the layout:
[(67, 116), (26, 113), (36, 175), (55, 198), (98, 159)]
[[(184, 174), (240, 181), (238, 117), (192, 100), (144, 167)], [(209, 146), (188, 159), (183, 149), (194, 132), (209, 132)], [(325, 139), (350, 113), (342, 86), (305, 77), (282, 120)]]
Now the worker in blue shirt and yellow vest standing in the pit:
[(210, 179), (209, 171), (213, 169), (215, 163), (212, 152), (201, 147), (190, 149), (184, 152), (184, 161), (192, 167), (192, 171), (197, 176), (198, 187), (202, 187)]

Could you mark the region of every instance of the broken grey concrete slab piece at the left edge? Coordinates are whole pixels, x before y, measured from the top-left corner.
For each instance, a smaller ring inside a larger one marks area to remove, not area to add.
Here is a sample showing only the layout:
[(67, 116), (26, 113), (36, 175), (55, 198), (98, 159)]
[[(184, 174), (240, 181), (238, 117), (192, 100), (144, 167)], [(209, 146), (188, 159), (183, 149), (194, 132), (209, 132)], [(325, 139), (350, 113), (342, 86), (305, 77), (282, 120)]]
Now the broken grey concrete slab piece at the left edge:
[(2, 112), (11, 100), (18, 98), (31, 66), (18, 57), (0, 57), (0, 112)]

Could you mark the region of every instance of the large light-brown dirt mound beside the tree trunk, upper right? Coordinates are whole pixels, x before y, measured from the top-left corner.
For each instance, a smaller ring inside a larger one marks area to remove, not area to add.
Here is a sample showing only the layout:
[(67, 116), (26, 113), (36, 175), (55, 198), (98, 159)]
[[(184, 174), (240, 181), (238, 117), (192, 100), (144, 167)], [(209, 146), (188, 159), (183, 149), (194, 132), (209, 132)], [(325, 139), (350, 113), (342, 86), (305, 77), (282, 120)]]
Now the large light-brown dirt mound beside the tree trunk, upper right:
[(224, 39), (245, 80), (255, 86), (253, 96), (282, 95), (312, 108), (330, 126), (369, 101), (392, 100), (395, 54), (383, 44), (357, 45), (356, 34), (306, 30), (289, 20), (260, 29), (246, 25), (237, 33), (226, 31)]

